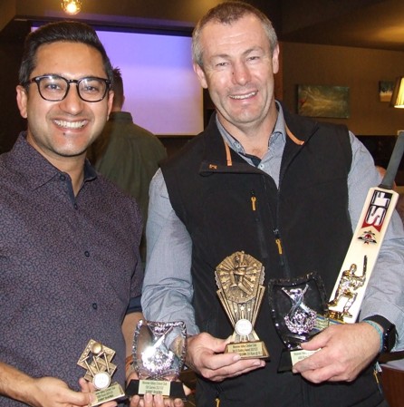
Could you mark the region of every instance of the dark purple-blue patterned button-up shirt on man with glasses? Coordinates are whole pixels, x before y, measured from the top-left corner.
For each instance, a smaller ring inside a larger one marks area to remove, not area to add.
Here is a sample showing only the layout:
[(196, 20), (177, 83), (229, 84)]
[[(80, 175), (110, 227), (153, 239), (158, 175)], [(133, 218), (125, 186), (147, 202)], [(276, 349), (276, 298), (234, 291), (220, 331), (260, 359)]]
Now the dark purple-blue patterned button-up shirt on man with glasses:
[(0, 156), (0, 213), (0, 361), (78, 390), (76, 363), (94, 339), (116, 351), (123, 384), (121, 323), (142, 282), (136, 202), (88, 162), (74, 197), (69, 175), (22, 133)]

